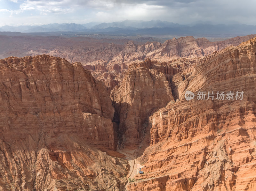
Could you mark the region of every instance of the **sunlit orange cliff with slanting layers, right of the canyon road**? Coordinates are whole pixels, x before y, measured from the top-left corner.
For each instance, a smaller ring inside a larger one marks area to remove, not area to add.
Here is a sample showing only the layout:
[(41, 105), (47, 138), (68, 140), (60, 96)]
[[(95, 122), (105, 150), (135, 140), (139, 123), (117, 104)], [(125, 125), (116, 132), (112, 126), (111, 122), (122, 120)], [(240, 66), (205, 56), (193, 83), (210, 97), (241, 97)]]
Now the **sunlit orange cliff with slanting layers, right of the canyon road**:
[[(204, 57), (175, 74), (178, 102), (149, 116), (137, 151), (145, 172), (128, 190), (254, 190), (256, 187), (256, 38)], [(205, 100), (185, 100), (189, 90)], [(208, 91), (244, 92), (207, 99)], [(174, 94), (174, 93), (173, 93)], [(142, 147), (143, 147), (143, 144)]]

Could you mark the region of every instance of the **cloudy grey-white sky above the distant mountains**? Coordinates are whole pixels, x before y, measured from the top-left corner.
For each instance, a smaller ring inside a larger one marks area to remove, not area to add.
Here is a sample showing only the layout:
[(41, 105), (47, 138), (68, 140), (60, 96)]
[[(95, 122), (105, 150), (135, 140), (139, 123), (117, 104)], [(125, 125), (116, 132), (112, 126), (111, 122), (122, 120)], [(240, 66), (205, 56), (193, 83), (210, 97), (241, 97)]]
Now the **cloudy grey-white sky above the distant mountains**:
[(0, 26), (132, 20), (256, 25), (255, 0), (0, 0)]

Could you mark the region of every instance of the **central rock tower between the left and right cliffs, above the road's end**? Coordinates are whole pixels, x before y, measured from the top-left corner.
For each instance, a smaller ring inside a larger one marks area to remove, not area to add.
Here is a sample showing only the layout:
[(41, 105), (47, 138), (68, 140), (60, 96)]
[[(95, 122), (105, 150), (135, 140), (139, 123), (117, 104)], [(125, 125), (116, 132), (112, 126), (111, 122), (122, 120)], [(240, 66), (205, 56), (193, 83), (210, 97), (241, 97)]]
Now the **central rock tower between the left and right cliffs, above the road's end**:
[[(165, 73), (166, 74), (165, 74)], [(159, 62), (130, 64), (123, 82), (111, 91), (116, 109), (119, 145), (130, 149), (141, 142), (150, 114), (173, 100), (170, 79), (177, 72), (171, 65)]]

